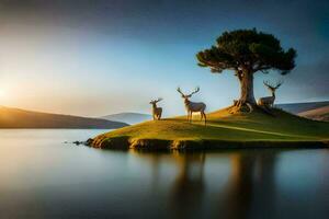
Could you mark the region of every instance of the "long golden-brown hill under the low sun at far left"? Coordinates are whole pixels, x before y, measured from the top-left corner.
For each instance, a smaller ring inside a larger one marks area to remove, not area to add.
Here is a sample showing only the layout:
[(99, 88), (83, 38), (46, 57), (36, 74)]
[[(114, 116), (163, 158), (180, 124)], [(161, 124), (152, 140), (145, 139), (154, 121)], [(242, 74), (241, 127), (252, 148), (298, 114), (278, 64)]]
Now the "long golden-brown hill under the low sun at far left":
[(125, 123), (100, 118), (39, 113), (0, 106), (0, 128), (87, 128), (112, 129), (127, 126)]

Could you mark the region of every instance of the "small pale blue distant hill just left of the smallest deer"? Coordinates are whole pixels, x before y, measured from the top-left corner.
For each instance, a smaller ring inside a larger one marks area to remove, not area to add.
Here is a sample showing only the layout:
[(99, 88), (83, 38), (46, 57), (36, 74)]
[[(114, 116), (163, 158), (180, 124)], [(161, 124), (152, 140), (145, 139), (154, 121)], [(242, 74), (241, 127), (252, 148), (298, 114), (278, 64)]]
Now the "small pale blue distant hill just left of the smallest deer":
[(127, 124), (133, 125), (133, 124), (138, 124), (138, 123), (141, 123), (141, 122), (146, 122), (146, 120), (151, 119), (151, 115), (141, 114), (141, 113), (118, 113), (118, 114), (102, 116), (101, 118), (109, 119), (109, 120), (127, 123)]

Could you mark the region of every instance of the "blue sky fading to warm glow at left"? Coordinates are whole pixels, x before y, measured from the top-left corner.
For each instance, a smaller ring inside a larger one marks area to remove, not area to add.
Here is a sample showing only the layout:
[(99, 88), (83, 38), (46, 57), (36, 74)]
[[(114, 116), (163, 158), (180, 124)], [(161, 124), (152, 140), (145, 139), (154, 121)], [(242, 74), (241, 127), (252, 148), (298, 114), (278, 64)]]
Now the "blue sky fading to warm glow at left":
[(169, 116), (184, 113), (180, 85), (215, 111), (239, 97), (238, 81), (195, 54), (252, 27), (298, 54), (290, 74), (254, 76), (256, 97), (283, 79), (277, 103), (329, 100), (328, 0), (0, 0), (0, 105), (103, 116), (163, 97)]

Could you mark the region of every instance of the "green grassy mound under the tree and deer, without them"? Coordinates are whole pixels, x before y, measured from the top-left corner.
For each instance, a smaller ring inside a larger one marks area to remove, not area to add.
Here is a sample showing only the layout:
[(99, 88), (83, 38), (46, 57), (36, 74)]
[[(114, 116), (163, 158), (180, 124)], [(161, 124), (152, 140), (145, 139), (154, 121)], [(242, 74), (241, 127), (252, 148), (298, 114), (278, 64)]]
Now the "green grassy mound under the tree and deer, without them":
[[(196, 149), (230, 147), (325, 146), (329, 124), (308, 120), (280, 110), (275, 116), (254, 111), (251, 114), (228, 113), (227, 108), (207, 115), (208, 123), (192, 124), (184, 116), (151, 120), (124, 127), (95, 137), (95, 148)], [(195, 116), (194, 119), (200, 119)]]

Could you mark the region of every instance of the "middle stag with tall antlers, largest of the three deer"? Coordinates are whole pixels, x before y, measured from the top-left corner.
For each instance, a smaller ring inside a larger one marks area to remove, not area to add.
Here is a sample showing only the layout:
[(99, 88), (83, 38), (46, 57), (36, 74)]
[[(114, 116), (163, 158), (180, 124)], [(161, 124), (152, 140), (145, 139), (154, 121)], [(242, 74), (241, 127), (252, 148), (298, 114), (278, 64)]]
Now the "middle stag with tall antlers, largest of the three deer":
[(197, 87), (189, 95), (184, 94), (181, 91), (180, 88), (178, 88), (177, 91), (182, 95), (182, 99), (184, 99), (184, 104), (185, 104), (185, 108), (186, 108), (186, 112), (188, 112), (188, 120), (192, 122), (192, 113), (200, 112), (200, 114), (201, 114), (201, 120), (202, 120), (202, 118), (204, 118), (204, 124), (206, 125), (207, 118), (206, 118), (206, 114), (204, 113), (204, 111), (206, 108), (206, 104), (204, 104), (202, 102), (201, 103), (194, 103), (194, 102), (191, 102), (189, 100), (194, 93), (197, 93), (200, 91), (200, 88)]

